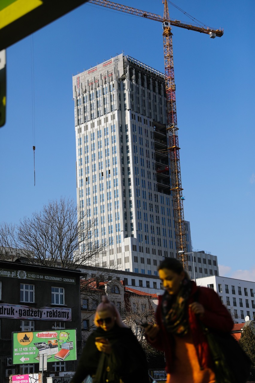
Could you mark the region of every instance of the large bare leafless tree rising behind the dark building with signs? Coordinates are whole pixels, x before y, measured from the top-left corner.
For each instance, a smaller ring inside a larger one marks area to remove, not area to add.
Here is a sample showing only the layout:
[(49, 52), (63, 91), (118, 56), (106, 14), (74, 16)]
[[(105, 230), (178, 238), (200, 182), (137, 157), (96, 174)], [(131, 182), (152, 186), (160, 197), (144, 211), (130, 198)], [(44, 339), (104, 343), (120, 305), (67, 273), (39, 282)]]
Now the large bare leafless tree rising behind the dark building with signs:
[[(8, 230), (0, 232), (0, 244), (14, 232), (12, 225), (5, 227)], [(79, 268), (105, 251), (106, 242), (95, 241), (96, 229), (97, 218), (90, 219), (83, 211), (77, 220), (76, 203), (62, 197), (49, 201), (31, 218), (24, 217), (13, 237), (19, 253), (33, 264)]]

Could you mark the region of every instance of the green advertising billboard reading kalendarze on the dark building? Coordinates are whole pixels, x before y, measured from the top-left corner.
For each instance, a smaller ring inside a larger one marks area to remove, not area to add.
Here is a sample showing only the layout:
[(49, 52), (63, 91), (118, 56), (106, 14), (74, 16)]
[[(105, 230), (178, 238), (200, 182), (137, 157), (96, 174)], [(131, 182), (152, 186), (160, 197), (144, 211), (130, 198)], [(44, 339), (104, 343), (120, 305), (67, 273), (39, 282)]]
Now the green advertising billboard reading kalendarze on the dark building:
[(24, 331), (12, 333), (13, 364), (39, 363), (39, 355), (47, 361), (76, 360), (76, 329)]

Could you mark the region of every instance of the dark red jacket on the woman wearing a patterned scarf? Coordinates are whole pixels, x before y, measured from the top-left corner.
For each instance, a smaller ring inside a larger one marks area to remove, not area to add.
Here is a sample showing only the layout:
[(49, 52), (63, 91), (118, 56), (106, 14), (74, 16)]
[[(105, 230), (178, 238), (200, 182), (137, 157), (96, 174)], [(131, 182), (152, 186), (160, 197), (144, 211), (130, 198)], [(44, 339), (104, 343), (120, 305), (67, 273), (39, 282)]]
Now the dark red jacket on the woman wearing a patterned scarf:
[[(198, 362), (201, 368), (212, 367), (208, 344), (201, 329), (201, 321), (208, 326), (211, 331), (230, 332), (233, 327), (231, 315), (226, 307), (221, 303), (219, 296), (214, 290), (207, 287), (198, 287), (195, 282), (192, 283), (192, 291), (188, 299), (187, 306), (197, 301), (205, 309), (205, 314), (198, 320), (197, 316), (188, 309), (188, 321), (193, 342), (197, 351)], [(156, 321), (160, 331), (154, 341), (148, 339), (148, 342), (160, 351), (164, 351), (166, 359), (166, 372), (171, 373), (174, 360), (174, 337), (167, 332), (162, 321), (161, 311), (162, 296), (159, 296), (159, 304), (156, 310)]]

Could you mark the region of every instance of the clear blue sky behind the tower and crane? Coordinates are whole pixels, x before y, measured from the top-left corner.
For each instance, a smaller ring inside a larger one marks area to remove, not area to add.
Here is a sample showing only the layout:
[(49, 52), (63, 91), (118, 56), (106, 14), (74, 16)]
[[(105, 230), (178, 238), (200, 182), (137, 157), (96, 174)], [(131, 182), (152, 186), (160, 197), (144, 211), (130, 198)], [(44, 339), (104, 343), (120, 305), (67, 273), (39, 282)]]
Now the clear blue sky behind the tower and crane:
[[(215, 39), (172, 28), (184, 217), (193, 249), (217, 255), (220, 275), (255, 281), (255, 2), (175, 2), (224, 28)], [(163, 15), (159, 0), (124, 4)], [(190, 22), (170, 3), (169, 13)], [(7, 49), (0, 221), (18, 223), (61, 195), (76, 200), (72, 74), (122, 51), (164, 72), (161, 23), (86, 3)]]

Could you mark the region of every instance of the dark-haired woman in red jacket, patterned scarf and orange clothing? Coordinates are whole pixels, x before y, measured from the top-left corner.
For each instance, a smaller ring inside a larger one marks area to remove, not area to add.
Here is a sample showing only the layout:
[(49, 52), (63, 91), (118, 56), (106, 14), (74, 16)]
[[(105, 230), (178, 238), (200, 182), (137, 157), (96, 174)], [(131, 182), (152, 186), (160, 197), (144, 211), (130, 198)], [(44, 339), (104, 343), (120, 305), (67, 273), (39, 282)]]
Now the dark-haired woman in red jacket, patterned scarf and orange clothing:
[(232, 318), (214, 290), (197, 287), (181, 262), (166, 258), (158, 267), (165, 288), (157, 324), (146, 327), (149, 343), (164, 351), (167, 383), (215, 383), (202, 322), (211, 331), (230, 332)]

